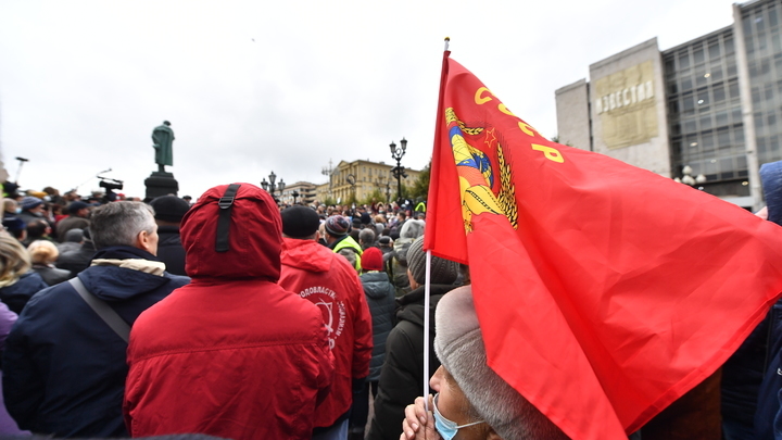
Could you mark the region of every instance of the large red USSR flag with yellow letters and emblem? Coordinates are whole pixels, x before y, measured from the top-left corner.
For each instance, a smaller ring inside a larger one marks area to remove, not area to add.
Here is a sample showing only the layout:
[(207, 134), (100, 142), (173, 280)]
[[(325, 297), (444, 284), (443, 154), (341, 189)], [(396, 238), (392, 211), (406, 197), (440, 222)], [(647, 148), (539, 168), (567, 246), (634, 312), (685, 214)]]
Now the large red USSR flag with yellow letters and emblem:
[(573, 439), (626, 439), (782, 291), (782, 228), (551, 142), (447, 58), (425, 249), (468, 263), (489, 365)]

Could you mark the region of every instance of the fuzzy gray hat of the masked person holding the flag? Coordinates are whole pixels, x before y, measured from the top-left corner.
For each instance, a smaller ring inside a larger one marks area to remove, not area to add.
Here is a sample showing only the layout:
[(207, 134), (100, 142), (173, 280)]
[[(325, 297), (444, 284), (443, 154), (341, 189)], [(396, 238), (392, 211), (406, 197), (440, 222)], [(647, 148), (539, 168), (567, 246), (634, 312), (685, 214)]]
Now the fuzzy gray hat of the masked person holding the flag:
[(454, 289), (438, 302), (434, 352), (478, 415), (503, 439), (568, 437), (487, 365), (472, 288)]

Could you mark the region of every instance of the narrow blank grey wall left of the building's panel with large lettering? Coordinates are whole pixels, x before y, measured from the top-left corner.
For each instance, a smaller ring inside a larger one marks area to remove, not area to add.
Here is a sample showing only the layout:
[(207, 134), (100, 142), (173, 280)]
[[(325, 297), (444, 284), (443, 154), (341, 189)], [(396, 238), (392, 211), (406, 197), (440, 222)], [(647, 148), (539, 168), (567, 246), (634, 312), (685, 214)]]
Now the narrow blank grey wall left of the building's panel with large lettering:
[(580, 79), (554, 92), (559, 143), (591, 151), (589, 84)]

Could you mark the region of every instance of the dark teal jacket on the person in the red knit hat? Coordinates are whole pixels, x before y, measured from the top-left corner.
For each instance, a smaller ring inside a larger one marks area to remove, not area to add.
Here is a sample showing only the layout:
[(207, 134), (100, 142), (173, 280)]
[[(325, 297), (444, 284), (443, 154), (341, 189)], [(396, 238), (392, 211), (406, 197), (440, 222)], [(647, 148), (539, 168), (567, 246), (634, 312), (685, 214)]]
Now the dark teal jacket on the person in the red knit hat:
[(373, 357), (369, 361), (367, 381), (380, 380), (380, 369), (386, 360), (386, 339), (393, 328), (396, 309), (396, 289), (384, 272), (370, 272), (361, 276), (369, 313), (373, 316)]

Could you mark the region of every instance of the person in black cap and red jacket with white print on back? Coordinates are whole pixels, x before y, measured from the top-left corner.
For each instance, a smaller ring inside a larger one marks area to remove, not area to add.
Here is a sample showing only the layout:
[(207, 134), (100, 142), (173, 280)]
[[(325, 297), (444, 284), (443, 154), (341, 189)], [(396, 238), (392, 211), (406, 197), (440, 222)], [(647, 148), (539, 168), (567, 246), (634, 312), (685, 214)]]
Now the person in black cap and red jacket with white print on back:
[(282, 211), (282, 273), (279, 284), (320, 307), (335, 354), (335, 380), (315, 411), (313, 439), (346, 439), (353, 390), (369, 375), (371, 315), (355, 269), (319, 244), (317, 213), (307, 206)]

